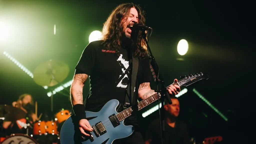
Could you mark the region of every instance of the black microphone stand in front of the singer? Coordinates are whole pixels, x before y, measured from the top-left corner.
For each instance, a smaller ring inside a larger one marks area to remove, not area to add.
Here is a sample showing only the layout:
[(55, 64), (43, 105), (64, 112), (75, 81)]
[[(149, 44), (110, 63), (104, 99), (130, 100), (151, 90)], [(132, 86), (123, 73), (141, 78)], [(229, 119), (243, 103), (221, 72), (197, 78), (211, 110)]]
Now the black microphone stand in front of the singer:
[[(152, 33), (152, 28), (151, 28), (151, 33)], [(156, 63), (156, 60), (151, 52), (151, 49), (150, 49), (150, 46), (148, 45), (148, 41), (146, 39), (146, 34), (145, 32), (142, 31), (142, 35), (143, 35), (143, 38), (147, 44), (147, 50), (148, 50), (148, 53), (150, 54), (150, 58), (152, 59), (151, 61), (151, 65), (155, 71), (155, 73), (157, 74), (156, 75), (156, 85), (157, 85), (157, 90), (155, 90), (155, 92), (157, 92), (157, 95), (158, 95), (158, 106), (159, 106), (159, 93), (161, 95), (161, 104), (162, 104), (162, 107), (161, 107), (161, 112), (160, 112), (160, 109), (159, 109), (159, 115), (161, 117), (161, 121), (160, 121), (160, 125), (161, 125), (161, 138), (162, 138), (162, 144), (165, 144), (165, 139), (164, 139), (164, 134), (165, 134), (165, 110), (164, 110), (164, 100), (167, 99), (168, 100), (168, 103), (169, 104), (172, 104), (172, 100), (170, 99), (170, 95), (166, 89), (166, 86), (165, 86), (165, 83), (164, 83), (164, 78), (163, 76), (161, 75), (161, 73), (159, 73), (159, 67)], [(150, 34), (151, 35), (151, 34)], [(161, 88), (158, 89), (158, 84), (161, 84)]]

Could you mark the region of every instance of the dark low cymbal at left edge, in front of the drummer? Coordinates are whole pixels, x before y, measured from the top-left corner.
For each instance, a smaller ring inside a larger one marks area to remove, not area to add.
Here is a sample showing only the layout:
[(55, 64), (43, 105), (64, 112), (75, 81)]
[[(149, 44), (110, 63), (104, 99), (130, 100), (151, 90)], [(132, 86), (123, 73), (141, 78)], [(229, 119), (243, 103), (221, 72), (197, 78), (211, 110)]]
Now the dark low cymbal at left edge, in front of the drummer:
[(16, 121), (26, 118), (25, 111), (9, 105), (0, 105), (0, 113), (5, 118), (5, 121)]

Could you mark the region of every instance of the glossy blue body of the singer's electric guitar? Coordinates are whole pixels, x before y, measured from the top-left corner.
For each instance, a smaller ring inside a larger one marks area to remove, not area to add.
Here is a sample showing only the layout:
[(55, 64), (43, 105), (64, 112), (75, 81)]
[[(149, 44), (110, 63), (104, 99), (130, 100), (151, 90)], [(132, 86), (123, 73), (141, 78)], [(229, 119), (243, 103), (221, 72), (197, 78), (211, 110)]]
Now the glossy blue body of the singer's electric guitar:
[(86, 111), (86, 117), (88, 118), (89, 123), (92, 127), (99, 127), (99, 124), (97, 125), (97, 123), (101, 122), (105, 129), (105, 131), (98, 137), (96, 136), (95, 132), (91, 132), (93, 140), (90, 139), (90, 137), (86, 136), (83, 136), (86, 138), (85, 140), (82, 138), (81, 132), (78, 127), (78, 122), (74, 123), (74, 115), (70, 116), (64, 122), (60, 131), (61, 144), (111, 144), (115, 139), (130, 136), (133, 133), (133, 126), (125, 126), (122, 121), (117, 126), (114, 124), (114, 127), (114, 125), (110, 121), (113, 120), (113, 118), (109, 118), (111, 115), (118, 114), (118, 112), (116, 112), (118, 107), (119, 101), (116, 99), (112, 99), (108, 101), (99, 112)]

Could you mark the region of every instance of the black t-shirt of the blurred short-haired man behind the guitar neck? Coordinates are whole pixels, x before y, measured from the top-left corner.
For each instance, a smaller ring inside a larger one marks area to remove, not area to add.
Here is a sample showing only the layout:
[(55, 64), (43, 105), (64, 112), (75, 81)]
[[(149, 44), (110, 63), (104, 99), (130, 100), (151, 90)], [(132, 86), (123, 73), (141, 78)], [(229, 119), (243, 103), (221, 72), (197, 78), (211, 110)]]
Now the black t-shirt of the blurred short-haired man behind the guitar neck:
[[(164, 138), (166, 144), (189, 144), (189, 134), (185, 123), (177, 120), (173, 128), (165, 122), (165, 130)], [(159, 119), (150, 124), (145, 138), (146, 140), (151, 139), (151, 144), (162, 143)]]

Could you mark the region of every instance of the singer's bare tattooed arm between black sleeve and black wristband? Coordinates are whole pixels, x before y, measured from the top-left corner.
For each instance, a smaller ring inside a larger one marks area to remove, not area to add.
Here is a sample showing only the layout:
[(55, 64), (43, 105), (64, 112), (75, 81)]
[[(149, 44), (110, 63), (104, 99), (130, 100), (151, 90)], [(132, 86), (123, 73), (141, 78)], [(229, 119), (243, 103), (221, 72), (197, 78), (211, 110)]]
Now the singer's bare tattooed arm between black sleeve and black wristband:
[(70, 87), (70, 99), (72, 105), (83, 104), (83, 86), (87, 80), (87, 74), (75, 74)]

